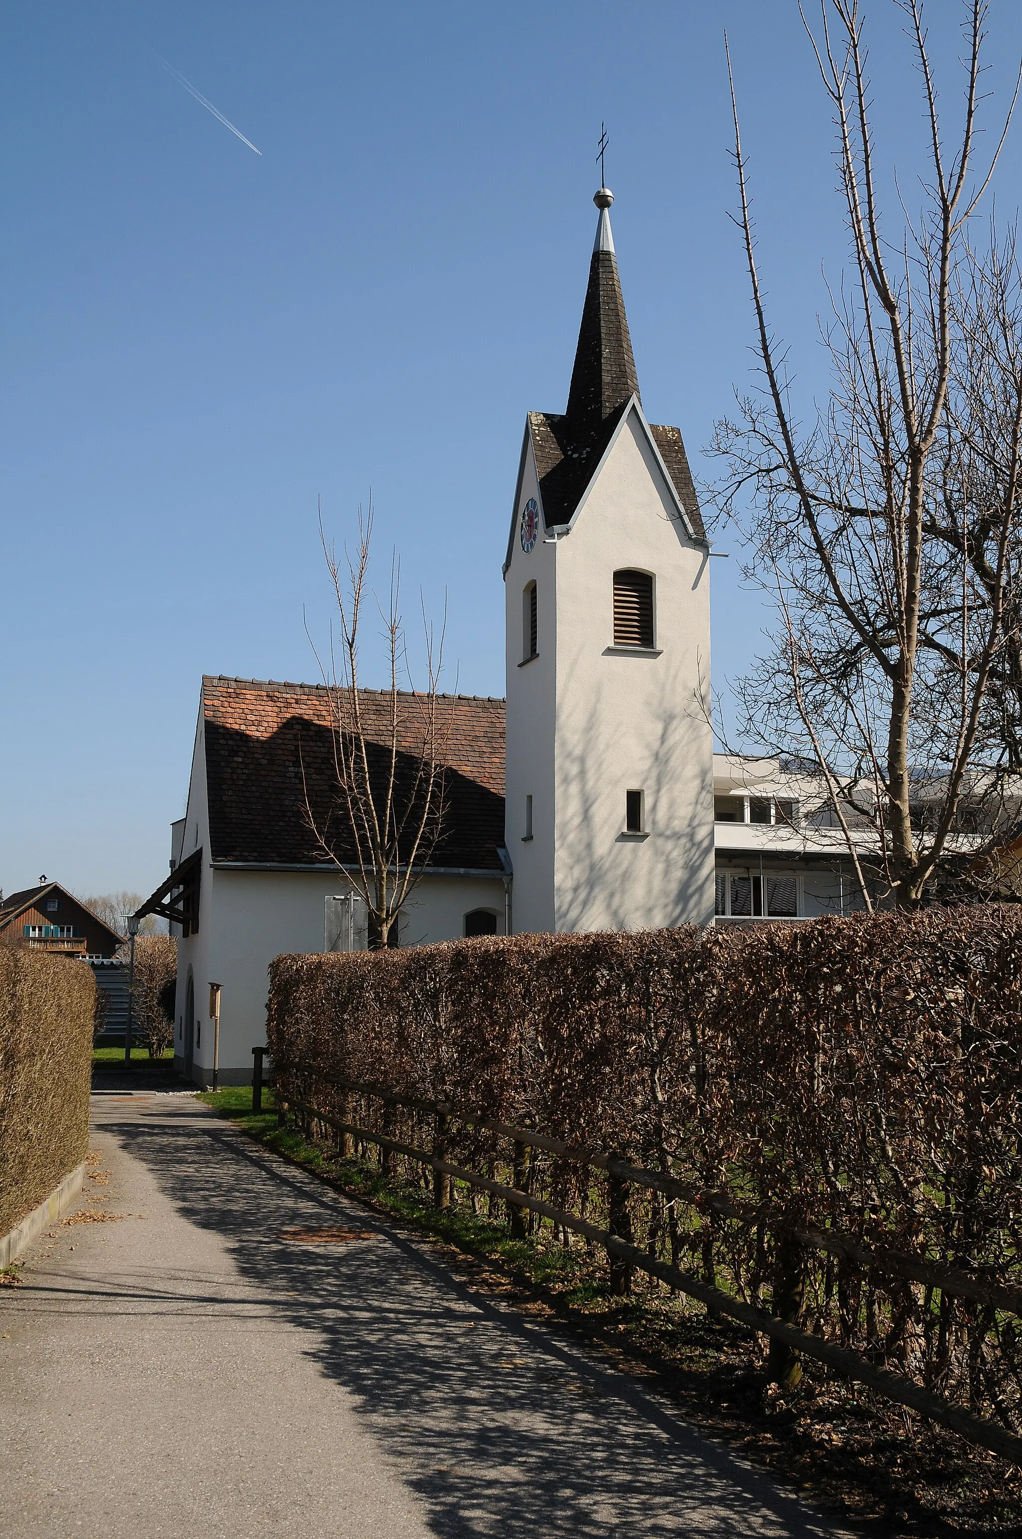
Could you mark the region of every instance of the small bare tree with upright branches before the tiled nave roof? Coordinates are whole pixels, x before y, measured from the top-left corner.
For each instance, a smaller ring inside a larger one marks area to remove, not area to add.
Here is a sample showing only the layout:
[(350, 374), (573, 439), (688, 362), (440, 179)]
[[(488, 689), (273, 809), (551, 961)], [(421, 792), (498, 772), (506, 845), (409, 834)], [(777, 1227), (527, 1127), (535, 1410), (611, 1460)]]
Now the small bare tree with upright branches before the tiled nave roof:
[[(429, 865), (445, 833), (446, 720), (439, 708), (443, 634), (426, 622), (425, 689), (414, 689), (406, 633), (400, 614), (400, 568), (391, 560), (383, 620), (389, 680), (385, 689), (363, 688), (359, 673), (362, 625), (372, 542), (372, 505), (363, 517), (354, 554), (343, 563), (326, 540), (320, 516), (323, 559), (334, 588), (340, 636), (331, 631), (329, 659), (317, 653), (331, 708), (332, 794), (323, 808), (303, 762), (305, 813), (323, 854), (345, 874), (369, 920), (369, 945), (397, 940), (399, 914)], [(408, 689), (399, 688), (400, 677)]]

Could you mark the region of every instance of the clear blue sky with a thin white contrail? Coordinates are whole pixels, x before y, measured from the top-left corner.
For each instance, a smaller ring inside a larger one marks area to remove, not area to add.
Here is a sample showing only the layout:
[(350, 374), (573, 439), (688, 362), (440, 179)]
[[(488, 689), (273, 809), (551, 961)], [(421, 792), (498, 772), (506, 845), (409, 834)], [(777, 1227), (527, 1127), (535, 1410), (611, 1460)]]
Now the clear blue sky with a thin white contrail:
[[(900, 20), (870, 8), (880, 165), (917, 165)], [(954, 0), (931, 5), (947, 111)], [(448, 688), (503, 694), (503, 556), (526, 409), (563, 409), (600, 120), (650, 416), (694, 469), (751, 312), (728, 28), (760, 260), (805, 400), (843, 260), (827, 102), (788, 0), (514, 6), (38, 3), (0, 20), (5, 668), (0, 882), (149, 891), (202, 673), (316, 679), (343, 540), (448, 596)], [(994, 5), (991, 112), (1022, 14)], [(169, 62), (256, 155), (162, 66)], [(991, 117), (993, 123), (993, 117)], [(1022, 129), (1020, 129), (1022, 131)], [(999, 206), (1014, 209), (1019, 137)], [(722, 536), (722, 549), (734, 549)], [(714, 685), (770, 616), (714, 562)], [(366, 682), (377, 682), (376, 646)]]

